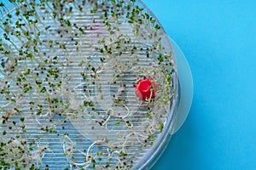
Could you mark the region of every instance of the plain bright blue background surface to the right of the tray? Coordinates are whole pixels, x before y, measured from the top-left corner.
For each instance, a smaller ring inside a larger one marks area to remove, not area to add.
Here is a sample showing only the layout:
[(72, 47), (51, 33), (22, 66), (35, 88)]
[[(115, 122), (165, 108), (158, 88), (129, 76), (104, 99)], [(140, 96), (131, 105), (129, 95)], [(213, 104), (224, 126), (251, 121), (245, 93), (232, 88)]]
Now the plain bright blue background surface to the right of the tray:
[(143, 2), (194, 77), (188, 119), (153, 169), (256, 169), (256, 1)]

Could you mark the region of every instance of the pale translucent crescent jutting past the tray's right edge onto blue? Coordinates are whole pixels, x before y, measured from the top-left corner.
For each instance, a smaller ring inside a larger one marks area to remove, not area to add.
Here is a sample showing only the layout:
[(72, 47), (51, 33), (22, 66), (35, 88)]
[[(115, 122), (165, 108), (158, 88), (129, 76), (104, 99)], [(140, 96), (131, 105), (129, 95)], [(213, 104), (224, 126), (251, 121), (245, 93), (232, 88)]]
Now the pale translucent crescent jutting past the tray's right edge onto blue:
[(177, 43), (172, 42), (172, 49), (174, 51), (177, 63), (177, 73), (179, 80), (179, 105), (177, 107), (176, 116), (173, 118), (172, 134), (183, 126), (187, 116), (189, 115), (190, 107), (193, 100), (193, 77), (190, 71), (189, 62), (184, 56), (182, 50), (177, 46)]

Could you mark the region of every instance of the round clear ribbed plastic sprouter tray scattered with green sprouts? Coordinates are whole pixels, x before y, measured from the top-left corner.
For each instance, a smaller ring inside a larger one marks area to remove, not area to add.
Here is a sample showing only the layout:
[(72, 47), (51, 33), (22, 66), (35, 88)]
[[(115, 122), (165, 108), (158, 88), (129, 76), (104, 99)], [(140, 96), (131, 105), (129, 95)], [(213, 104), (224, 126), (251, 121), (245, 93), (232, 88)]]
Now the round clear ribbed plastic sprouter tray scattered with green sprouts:
[[(140, 1), (0, 3), (0, 164), (150, 167), (178, 101), (166, 32)], [(157, 85), (154, 99), (137, 82)]]

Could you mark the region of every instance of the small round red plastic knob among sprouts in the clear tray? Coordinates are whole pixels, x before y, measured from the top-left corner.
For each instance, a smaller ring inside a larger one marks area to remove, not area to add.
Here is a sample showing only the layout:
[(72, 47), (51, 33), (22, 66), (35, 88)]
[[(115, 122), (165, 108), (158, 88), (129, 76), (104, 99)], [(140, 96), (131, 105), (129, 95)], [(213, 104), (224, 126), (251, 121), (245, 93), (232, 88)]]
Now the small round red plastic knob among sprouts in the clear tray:
[(144, 78), (137, 82), (137, 85), (135, 86), (135, 94), (143, 101), (154, 99), (156, 88), (156, 83), (152, 79)]

